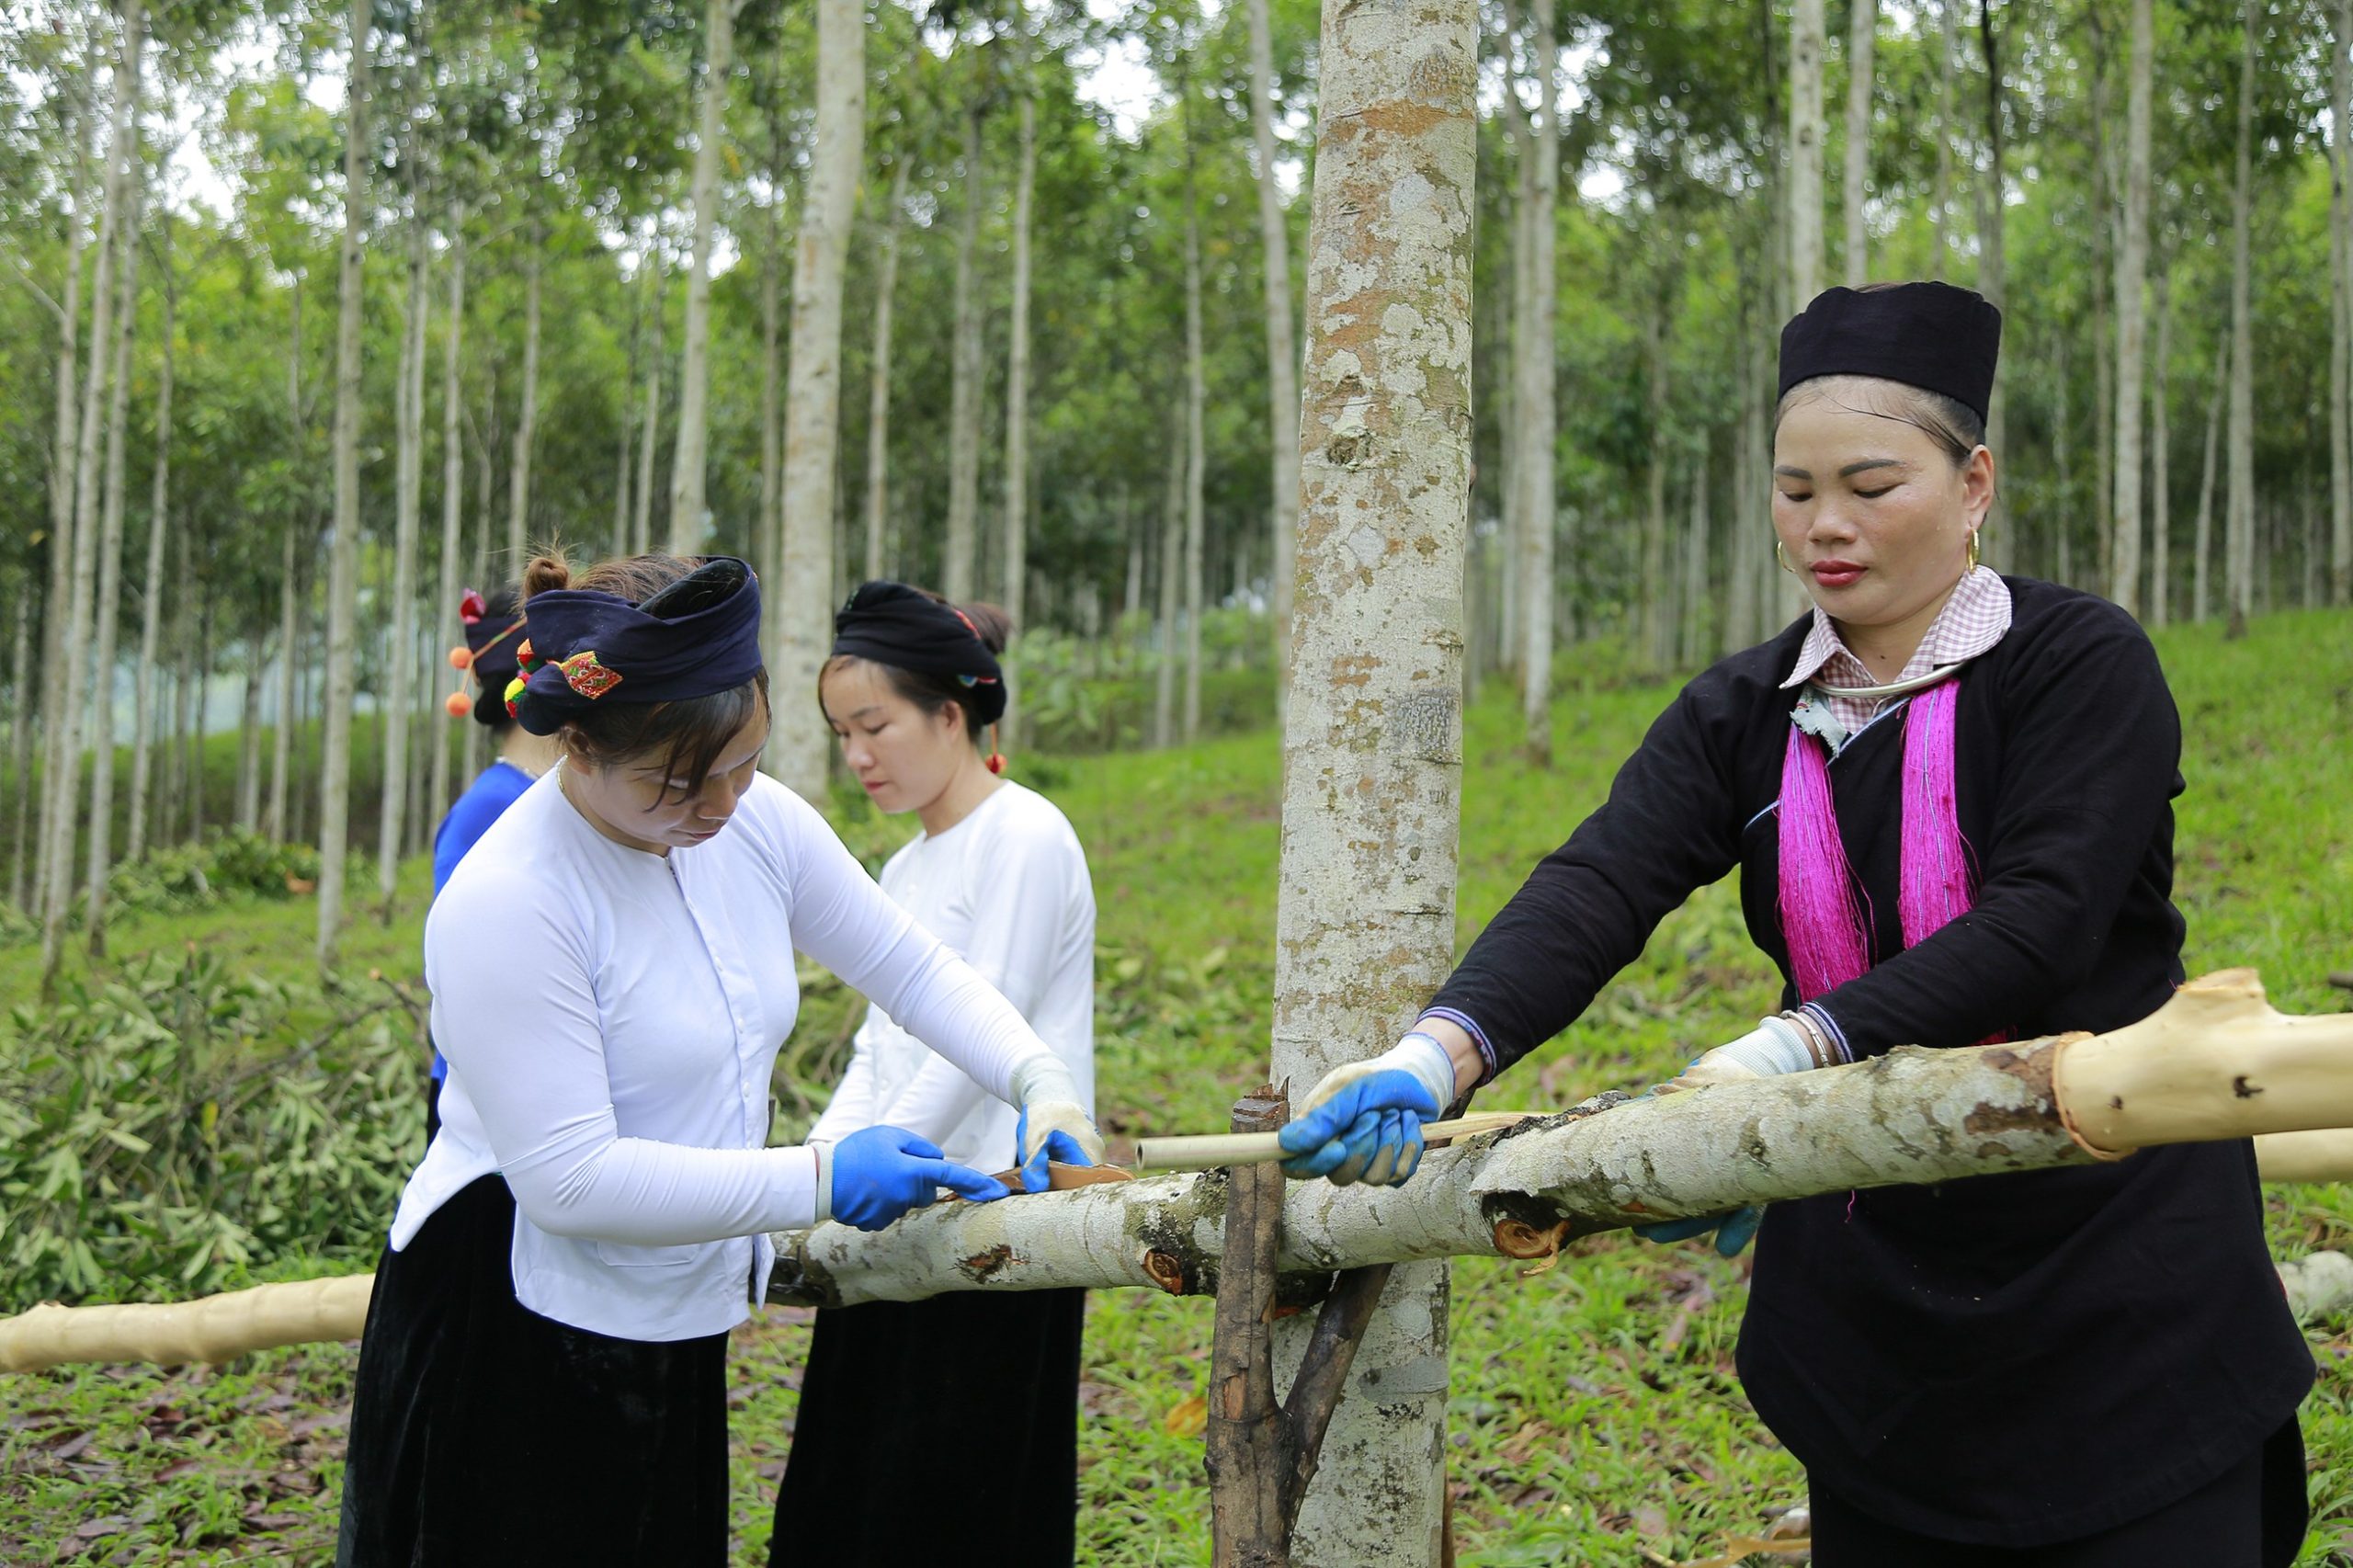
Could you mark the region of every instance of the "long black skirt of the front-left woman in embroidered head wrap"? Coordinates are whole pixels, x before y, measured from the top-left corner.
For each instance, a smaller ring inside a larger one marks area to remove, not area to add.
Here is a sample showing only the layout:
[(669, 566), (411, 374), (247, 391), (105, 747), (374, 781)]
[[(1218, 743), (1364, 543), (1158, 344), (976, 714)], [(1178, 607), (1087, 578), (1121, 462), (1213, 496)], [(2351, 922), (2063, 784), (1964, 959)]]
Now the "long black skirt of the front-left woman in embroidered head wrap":
[(384, 1253), (339, 1568), (718, 1568), (727, 1335), (616, 1340), (529, 1311), (513, 1227), (489, 1175)]

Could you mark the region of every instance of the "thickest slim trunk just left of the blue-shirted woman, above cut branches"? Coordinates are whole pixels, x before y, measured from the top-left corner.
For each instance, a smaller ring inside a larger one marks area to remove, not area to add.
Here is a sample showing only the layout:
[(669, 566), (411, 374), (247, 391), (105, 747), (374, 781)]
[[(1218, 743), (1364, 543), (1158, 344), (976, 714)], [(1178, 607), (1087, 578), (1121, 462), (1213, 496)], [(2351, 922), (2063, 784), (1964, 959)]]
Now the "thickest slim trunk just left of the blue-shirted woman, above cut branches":
[(318, 782), (318, 963), (334, 963), (344, 932), (351, 852), (351, 692), (360, 622), (360, 238), (367, 228), (369, 0), (351, 0), (351, 73), (344, 113), (344, 257), (334, 332), (334, 546), (327, 551), (327, 692)]

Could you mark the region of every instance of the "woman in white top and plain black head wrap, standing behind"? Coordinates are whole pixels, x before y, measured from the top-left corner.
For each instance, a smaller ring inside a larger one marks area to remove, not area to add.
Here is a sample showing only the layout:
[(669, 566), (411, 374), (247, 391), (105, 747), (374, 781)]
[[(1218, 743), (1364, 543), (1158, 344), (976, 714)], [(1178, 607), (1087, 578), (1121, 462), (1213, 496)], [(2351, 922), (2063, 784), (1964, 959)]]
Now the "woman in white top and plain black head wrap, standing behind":
[[(981, 756), (1009, 697), (1005, 614), (871, 582), (833, 626), (819, 702), (842, 760), (878, 808), (922, 822), (882, 866), (882, 892), (1021, 1010), (1092, 1109), (1087, 855), (1052, 800), (1000, 777), (995, 751)], [(899, 1125), (951, 1161), (1005, 1170), (1024, 1151), (1019, 1123), (878, 1001), (809, 1142)], [(1024, 1187), (1047, 1184), (1045, 1156), (1038, 1144)], [(819, 1311), (769, 1566), (953, 1561), (976, 1540), (993, 1561), (1068, 1563), (1082, 1318), (1082, 1290)], [(988, 1486), (955, 1509), (911, 1509), (906, 1476), (936, 1462), (941, 1434), (988, 1436)]]

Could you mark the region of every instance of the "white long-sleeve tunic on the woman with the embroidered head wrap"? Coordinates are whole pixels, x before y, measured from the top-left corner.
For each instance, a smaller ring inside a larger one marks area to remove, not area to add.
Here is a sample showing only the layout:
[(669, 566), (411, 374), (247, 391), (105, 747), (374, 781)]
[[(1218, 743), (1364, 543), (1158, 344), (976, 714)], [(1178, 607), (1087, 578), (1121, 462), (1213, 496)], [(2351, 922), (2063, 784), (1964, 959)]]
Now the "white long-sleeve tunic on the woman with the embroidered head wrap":
[(769, 1069), (800, 1010), (793, 949), (889, 1008), (988, 1095), (1045, 1045), (758, 777), (715, 838), (652, 855), (541, 777), (426, 918), (442, 1128), (400, 1196), (405, 1248), (489, 1172), (515, 1194), (532, 1311), (628, 1340), (741, 1323), (767, 1231), (819, 1215), (816, 1156), (769, 1149)]

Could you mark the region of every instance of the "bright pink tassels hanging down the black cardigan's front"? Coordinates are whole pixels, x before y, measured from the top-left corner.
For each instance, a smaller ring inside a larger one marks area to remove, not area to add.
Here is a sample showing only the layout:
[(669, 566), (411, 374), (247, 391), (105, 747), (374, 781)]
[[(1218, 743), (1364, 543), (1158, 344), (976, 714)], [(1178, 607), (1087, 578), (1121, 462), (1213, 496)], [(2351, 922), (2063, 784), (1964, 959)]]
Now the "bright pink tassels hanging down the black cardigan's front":
[[(1904, 713), (1904, 859), (1897, 888), (1904, 946), (1918, 946), (1977, 902), (1969, 845), (1953, 808), (1958, 699), (1960, 680), (1941, 680), (1915, 695)], [(1828, 753), (1795, 725), (1781, 753), (1779, 911), (1800, 1003), (1871, 968), (1871, 916), (1838, 838)]]

